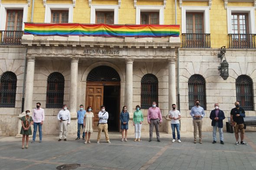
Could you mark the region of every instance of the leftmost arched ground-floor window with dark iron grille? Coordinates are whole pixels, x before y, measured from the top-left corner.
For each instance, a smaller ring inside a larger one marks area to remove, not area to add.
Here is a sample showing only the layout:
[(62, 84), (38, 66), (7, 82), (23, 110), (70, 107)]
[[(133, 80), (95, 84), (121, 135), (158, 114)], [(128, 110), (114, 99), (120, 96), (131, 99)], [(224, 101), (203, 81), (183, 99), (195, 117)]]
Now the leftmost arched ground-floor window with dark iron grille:
[(0, 80), (0, 107), (15, 107), (17, 77), (5, 72)]

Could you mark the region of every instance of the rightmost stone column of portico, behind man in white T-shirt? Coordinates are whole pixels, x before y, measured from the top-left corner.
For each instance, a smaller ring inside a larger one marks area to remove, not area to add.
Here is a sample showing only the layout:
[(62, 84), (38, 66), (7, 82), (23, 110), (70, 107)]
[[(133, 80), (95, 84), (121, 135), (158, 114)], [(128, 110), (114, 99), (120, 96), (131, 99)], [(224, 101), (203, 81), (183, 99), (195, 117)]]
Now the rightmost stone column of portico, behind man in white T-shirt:
[[(168, 60), (168, 94), (169, 94), (169, 110), (171, 105), (176, 104), (176, 82), (175, 82), (175, 59)], [(177, 104), (176, 104), (177, 105)]]

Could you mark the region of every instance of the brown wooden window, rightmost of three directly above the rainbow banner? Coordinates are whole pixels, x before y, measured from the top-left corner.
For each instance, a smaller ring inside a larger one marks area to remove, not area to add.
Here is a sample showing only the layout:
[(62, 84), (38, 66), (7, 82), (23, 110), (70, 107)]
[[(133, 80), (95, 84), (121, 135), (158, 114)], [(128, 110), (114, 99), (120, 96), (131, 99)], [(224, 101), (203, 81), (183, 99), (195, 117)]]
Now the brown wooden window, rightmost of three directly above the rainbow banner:
[(141, 12), (141, 24), (159, 24), (159, 12)]

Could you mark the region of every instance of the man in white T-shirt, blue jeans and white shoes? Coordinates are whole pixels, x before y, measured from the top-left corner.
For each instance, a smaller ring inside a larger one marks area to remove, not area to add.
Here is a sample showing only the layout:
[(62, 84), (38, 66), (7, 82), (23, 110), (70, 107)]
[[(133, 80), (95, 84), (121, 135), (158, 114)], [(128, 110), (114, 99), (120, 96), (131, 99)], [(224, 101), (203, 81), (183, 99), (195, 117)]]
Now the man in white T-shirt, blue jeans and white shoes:
[(172, 110), (169, 111), (168, 117), (171, 119), (171, 129), (172, 129), (172, 141), (175, 142), (175, 128), (177, 131), (177, 138), (178, 142), (181, 143), (181, 133), (180, 133), (180, 122), (179, 119), (181, 118), (181, 113), (179, 110), (176, 110), (176, 104), (171, 105)]

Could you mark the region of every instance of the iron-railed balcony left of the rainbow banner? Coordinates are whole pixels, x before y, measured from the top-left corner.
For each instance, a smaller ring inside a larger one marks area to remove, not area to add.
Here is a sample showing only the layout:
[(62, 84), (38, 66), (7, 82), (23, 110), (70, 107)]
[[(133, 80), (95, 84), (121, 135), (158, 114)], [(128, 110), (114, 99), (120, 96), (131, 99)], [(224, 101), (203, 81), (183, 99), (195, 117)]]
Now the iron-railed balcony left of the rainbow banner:
[(0, 45), (21, 45), (23, 31), (0, 31)]

